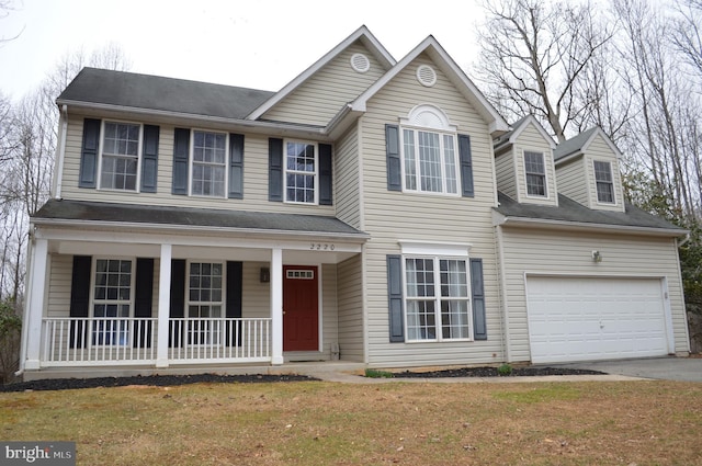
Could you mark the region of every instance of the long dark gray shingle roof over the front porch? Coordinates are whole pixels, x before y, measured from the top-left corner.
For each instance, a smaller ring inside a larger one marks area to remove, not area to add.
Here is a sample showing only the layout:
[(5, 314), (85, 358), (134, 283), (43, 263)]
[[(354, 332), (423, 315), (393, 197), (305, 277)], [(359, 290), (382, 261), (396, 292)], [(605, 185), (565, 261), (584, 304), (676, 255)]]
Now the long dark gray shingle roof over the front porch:
[(225, 211), (190, 207), (163, 207), (88, 201), (49, 200), (33, 216), (45, 220), (114, 221), (186, 227), (233, 228), (285, 232), (315, 232), (367, 238), (335, 217), (297, 214)]

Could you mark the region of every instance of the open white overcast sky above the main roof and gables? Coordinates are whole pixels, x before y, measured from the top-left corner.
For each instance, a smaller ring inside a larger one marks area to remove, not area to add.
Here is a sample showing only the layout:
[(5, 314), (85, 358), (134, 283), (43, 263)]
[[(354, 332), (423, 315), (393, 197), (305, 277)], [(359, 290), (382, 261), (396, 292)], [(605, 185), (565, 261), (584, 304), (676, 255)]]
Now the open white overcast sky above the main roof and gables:
[(365, 24), (401, 59), (433, 35), (464, 70), (478, 0), (14, 0), (0, 92), (33, 91), (67, 53), (118, 44), (129, 71), (278, 91)]

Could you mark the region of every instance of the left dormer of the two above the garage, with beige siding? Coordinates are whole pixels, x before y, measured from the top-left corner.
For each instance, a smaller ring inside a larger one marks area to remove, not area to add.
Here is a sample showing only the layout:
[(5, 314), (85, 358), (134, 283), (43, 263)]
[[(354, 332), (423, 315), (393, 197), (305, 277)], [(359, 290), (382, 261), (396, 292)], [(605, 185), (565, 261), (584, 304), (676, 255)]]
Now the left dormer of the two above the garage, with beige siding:
[(556, 144), (533, 115), (495, 140), (497, 189), (522, 204), (558, 205)]

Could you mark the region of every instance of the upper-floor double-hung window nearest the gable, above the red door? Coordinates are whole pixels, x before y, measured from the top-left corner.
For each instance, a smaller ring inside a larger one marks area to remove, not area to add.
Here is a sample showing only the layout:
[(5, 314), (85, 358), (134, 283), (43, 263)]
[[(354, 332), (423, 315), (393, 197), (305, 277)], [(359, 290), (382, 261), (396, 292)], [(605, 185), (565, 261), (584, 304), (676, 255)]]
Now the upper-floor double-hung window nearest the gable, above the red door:
[(317, 203), (318, 161), (317, 145), (285, 141), (285, 201)]

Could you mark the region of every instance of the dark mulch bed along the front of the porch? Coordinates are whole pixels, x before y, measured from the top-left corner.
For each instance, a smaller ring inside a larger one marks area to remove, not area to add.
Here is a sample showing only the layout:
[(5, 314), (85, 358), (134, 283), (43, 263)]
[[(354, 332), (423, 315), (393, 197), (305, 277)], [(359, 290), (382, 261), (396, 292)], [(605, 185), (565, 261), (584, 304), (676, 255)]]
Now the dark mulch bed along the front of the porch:
[(307, 382), (318, 380), (305, 375), (149, 375), (135, 377), (97, 377), (97, 378), (47, 378), (43, 380), (21, 382), (18, 384), (0, 385), (0, 391), (26, 390), (69, 390), (76, 388), (126, 387), (128, 385), (149, 385), (157, 387), (173, 387), (186, 384), (253, 384), (262, 382)]

